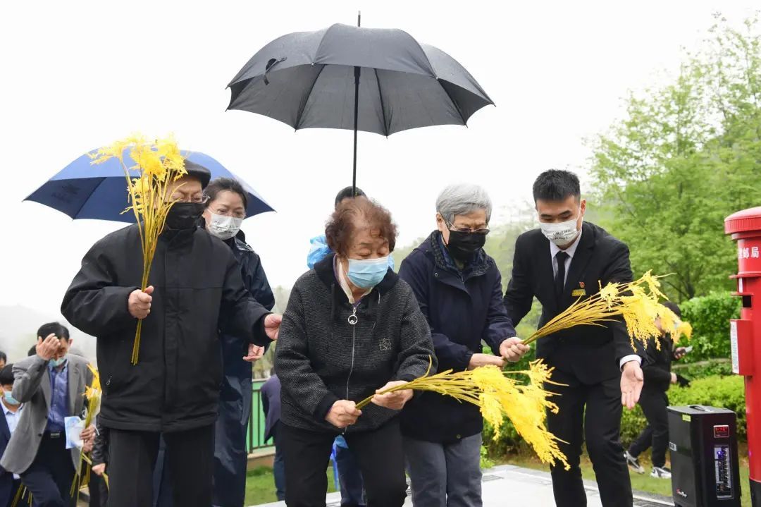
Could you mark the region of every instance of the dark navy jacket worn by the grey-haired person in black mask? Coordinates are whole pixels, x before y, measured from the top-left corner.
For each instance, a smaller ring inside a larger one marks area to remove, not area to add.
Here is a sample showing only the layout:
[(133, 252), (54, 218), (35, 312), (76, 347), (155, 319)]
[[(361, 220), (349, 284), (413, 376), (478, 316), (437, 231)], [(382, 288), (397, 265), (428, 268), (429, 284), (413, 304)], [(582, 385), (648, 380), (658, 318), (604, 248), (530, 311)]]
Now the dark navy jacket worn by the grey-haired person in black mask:
[[(482, 342), (499, 355), (499, 346), (515, 330), (502, 304), (499, 269), (479, 249), (458, 269), (435, 231), (403, 260), (399, 276), (409, 283), (431, 327), (439, 371), (464, 371)], [(483, 418), (470, 403), (423, 393), (402, 412), (402, 432), (428, 442), (457, 442), (483, 429)]]

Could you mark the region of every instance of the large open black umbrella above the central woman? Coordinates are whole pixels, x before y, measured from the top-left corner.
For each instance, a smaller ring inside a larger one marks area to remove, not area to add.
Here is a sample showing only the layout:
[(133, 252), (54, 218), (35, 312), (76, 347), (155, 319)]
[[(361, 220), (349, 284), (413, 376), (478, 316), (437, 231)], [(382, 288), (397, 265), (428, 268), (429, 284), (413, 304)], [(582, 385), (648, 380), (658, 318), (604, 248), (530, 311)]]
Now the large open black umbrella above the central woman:
[(260, 49), (230, 82), (228, 109), (294, 129), (354, 130), (390, 136), (431, 125), (466, 125), (494, 104), (454, 58), (403, 30), (334, 24), (288, 33)]

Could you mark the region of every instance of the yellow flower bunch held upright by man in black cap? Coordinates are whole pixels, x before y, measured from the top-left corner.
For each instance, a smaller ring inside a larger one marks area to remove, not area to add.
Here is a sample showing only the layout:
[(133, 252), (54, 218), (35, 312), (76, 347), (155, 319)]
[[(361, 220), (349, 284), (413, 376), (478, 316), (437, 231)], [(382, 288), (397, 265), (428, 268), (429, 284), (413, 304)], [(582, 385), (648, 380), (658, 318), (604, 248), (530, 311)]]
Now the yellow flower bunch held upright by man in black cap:
[[(124, 151), (127, 149), (129, 158), (135, 162), (131, 167), (128, 167), (124, 160)], [(138, 223), (143, 257), (140, 287), (145, 290), (148, 287), (148, 275), (151, 273), (158, 237), (164, 230), (167, 213), (174, 204), (170, 202), (170, 184), (187, 174), (185, 158), (173, 137), (151, 142), (139, 134), (116, 141), (89, 155), (92, 164), (103, 164), (111, 158), (116, 158), (122, 165), (129, 193), (129, 206), (124, 212), (133, 212)], [(138, 363), (141, 330), (142, 320), (138, 320), (135, 343), (132, 346), (132, 365)]]

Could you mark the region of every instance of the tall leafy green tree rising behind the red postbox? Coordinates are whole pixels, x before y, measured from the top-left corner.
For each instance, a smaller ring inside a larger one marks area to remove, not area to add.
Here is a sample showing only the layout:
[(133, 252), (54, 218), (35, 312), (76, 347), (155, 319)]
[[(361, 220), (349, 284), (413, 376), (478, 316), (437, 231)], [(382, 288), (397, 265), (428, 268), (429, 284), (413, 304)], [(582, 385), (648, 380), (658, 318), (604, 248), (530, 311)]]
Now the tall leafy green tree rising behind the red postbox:
[(761, 35), (723, 18), (670, 85), (632, 94), (626, 118), (594, 141), (604, 225), (629, 244), (635, 273), (673, 273), (678, 301), (731, 289), (736, 250), (724, 218), (761, 189)]

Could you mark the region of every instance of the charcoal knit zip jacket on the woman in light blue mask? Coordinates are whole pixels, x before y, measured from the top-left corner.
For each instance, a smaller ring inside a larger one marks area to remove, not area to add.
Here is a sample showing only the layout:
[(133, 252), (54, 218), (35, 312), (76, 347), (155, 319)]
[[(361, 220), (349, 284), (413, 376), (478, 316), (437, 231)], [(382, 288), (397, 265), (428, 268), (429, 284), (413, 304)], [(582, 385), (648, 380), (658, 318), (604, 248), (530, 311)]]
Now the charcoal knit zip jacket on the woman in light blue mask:
[[(409, 285), (389, 269), (355, 307), (336, 281), (334, 257), (294, 285), (275, 350), (281, 420), (312, 431), (338, 431), (325, 419), (337, 400), (358, 402), (389, 381), (425, 375), (430, 361), (431, 373), (436, 367), (431, 330)], [(397, 414), (371, 403), (346, 431), (377, 429)]]

